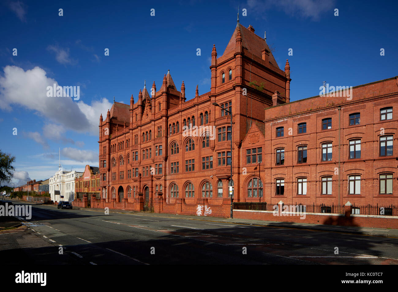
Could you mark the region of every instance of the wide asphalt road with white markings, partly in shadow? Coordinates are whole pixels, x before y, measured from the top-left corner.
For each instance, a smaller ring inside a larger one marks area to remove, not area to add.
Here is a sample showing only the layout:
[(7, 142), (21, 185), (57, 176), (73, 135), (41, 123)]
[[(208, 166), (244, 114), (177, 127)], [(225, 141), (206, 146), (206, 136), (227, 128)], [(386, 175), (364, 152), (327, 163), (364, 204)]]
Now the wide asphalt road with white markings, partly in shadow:
[(211, 220), (33, 205), (22, 227), (0, 232), (0, 258), (46, 265), (398, 264), (398, 238)]

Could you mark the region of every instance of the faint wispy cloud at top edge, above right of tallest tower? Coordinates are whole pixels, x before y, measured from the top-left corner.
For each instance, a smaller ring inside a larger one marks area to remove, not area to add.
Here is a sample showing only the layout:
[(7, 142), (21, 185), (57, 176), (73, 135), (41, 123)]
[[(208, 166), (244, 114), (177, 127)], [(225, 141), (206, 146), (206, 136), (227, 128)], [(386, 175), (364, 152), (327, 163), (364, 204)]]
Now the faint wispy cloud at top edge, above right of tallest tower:
[(326, 12), (333, 15), (334, 3), (334, 0), (248, 0), (247, 6), (261, 17), (265, 17), (267, 10), (277, 8), (289, 15), (318, 20)]

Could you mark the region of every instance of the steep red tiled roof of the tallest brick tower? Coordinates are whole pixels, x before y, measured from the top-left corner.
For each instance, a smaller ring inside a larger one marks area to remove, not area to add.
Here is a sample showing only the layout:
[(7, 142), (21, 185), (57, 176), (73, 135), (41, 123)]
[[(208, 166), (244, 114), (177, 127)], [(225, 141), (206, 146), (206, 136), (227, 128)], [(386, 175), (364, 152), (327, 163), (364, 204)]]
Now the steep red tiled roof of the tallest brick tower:
[(276, 68), (280, 69), (278, 63), (275, 61), (275, 58), (271, 53), (271, 50), (269, 49), (267, 42), (263, 38), (256, 35), (254, 32), (249, 31), (246, 27), (244, 27), (240, 23), (238, 23), (238, 25), (236, 26), (236, 29), (232, 34), (232, 37), (229, 40), (223, 55), (235, 51), (235, 45), (236, 45), (235, 37), (238, 29), (240, 29), (240, 34), (242, 36), (242, 46), (244, 48), (246, 48), (249, 52), (253, 53), (255, 56), (258, 56), (259, 58), (262, 58), (261, 50), (266, 48), (269, 51), (269, 62), (271, 62), (271, 64)]

